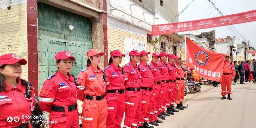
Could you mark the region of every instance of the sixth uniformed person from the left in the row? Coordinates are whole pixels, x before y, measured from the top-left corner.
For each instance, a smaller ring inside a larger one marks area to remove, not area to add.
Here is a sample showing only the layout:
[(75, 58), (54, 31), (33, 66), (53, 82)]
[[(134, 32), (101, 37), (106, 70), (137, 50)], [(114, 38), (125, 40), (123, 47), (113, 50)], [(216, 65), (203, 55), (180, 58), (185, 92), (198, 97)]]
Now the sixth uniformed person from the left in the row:
[(140, 74), (141, 74), (141, 112), (140, 112), (140, 120), (138, 124), (138, 128), (154, 128), (153, 126), (148, 125), (148, 120), (149, 118), (145, 117), (147, 113), (150, 113), (150, 107), (151, 100), (154, 98), (153, 95), (153, 86), (154, 86), (154, 81), (153, 81), (153, 75), (151, 70), (148, 68), (148, 54), (150, 52), (146, 52), (145, 50), (140, 52)]

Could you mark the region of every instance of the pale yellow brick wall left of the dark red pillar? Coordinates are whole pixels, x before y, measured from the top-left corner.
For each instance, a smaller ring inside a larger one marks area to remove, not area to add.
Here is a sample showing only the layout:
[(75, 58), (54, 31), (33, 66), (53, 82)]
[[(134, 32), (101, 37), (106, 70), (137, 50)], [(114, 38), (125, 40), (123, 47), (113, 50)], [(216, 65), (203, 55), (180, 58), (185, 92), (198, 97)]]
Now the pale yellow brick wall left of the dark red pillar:
[[(4, 2), (6, 3), (0, 3), (0, 55), (15, 53), (20, 58), (28, 60), (27, 5), (24, 0), (14, 0), (14, 3), (8, 3), (6, 0)], [(8, 10), (7, 6), (10, 5), (12, 5), (11, 9)], [(22, 69), (21, 77), (28, 79), (28, 66), (24, 65)]]

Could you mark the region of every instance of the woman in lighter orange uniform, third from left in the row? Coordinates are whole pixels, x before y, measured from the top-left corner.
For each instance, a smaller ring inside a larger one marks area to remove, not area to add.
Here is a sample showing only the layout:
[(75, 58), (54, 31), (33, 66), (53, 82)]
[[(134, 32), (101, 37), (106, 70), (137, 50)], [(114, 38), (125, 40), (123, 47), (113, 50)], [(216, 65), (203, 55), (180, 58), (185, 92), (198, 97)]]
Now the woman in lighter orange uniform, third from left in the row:
[(106, 125), (108, 116), (104, 94), (106, 86), (103, 79), (104, 71), (99, 67), (102, 55), (104, 53), (98, 49), (89, 50), (87, 68), (77, 76), (79, 85), (85, 87), (78, 94), (78, 99), (84, 101), (81, 116), (83, 128), (104, 128)]

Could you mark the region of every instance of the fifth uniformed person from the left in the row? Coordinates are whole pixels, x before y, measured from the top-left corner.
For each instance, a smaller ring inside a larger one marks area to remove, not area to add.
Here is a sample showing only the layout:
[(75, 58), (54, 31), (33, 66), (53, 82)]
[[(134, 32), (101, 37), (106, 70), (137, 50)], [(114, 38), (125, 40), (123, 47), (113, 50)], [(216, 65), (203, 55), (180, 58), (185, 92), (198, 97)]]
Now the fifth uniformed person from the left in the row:
[(138, 50), (129, 52), (130, 62), (124, 66), (124, 95), (125, 95), (125, 118), (124, 128), (136, 128), (141, 112), (141, 76), (137, 67), (140, 62)]

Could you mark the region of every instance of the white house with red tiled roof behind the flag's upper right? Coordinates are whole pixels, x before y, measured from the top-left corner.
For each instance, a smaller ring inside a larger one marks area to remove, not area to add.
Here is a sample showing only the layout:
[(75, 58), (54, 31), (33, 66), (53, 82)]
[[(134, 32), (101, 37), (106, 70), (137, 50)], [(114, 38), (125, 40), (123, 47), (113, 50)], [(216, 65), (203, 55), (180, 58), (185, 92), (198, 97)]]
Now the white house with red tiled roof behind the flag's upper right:
[(226, 38), (218, 38), (216, 39), (216, 45), (217, 45), (217, 51), (219, 53), (230, 54), (232, 61), (237, 60), (236, 36), (234, 37), (227, 36)]

